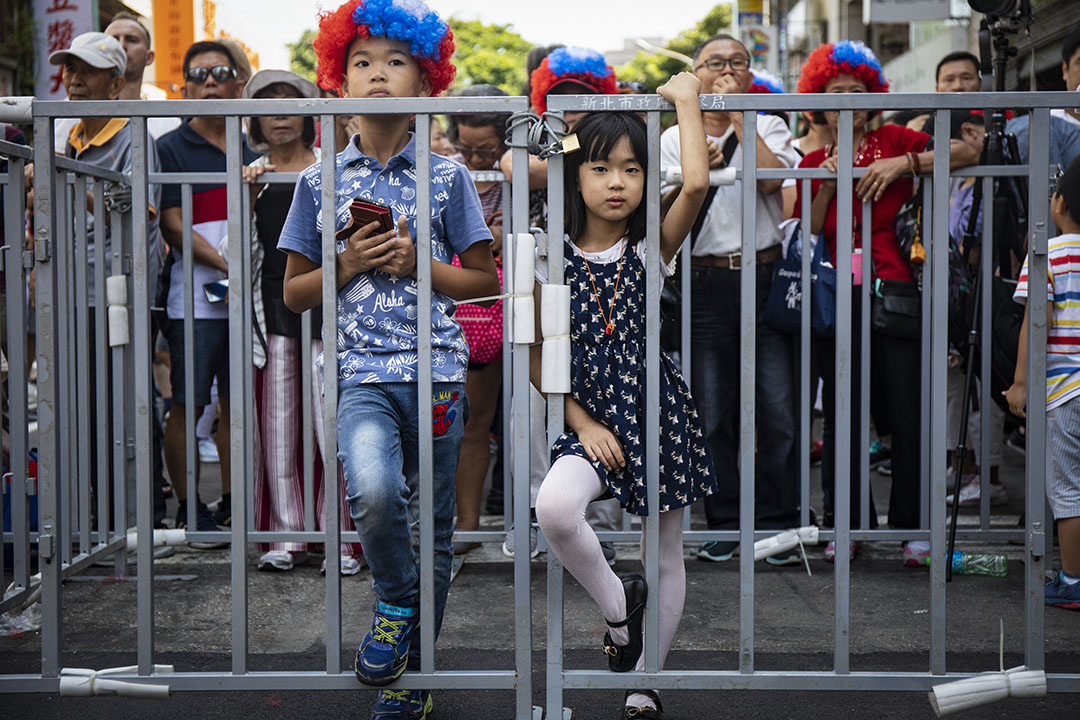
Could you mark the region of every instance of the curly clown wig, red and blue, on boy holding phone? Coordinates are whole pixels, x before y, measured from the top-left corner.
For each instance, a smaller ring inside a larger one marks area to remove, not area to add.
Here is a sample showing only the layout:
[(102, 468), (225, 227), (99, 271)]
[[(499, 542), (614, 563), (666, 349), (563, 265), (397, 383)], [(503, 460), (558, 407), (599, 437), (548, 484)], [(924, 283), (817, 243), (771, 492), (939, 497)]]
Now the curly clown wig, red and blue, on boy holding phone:
[(319, 60), (319, 86), (340, 90), (349, 44), (356, 38), (372, 37), (407, 44), (409, 55), (428, 77), (433, 96), (454, 82), (454, 33), (423, 0), (348, 0), (319, 17), (319, 36), (312, 43)]

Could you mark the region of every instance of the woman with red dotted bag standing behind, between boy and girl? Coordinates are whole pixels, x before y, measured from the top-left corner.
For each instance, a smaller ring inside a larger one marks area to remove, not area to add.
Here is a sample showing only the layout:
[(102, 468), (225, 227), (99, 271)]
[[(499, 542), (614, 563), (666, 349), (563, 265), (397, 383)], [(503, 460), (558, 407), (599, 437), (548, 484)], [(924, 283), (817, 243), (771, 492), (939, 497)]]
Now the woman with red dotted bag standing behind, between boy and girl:
[[(460, 96), (504, 96), (495, 85), (471, 85)], [(509, 113), (450, 116), (447, 139), (457, 151), (455, 160), (471, 172), (495, 171), (499, 158), (507, 151)], [(499, 282), (502, 282), (502, 182), (476, 181), (484, 221), (491, 229), (491, 254), (495, 256)], [(454, 260), (458, 264), (457, 258)], [(489, 308), (462, 304), (454, 315), (461, 324), (469, 342), (469, 372), (465, 394), (469, 396), (469, 422), (461, 441), (458, 461), (458, 518), (455, 530), (470, 532), (480, 527), (480, 511), (484, 494), (484, 477), (491, 460), (489, 431), (502, 385), (502, 301)], [(456, 543), (457, 555), (468, 553), (476, 543)]]

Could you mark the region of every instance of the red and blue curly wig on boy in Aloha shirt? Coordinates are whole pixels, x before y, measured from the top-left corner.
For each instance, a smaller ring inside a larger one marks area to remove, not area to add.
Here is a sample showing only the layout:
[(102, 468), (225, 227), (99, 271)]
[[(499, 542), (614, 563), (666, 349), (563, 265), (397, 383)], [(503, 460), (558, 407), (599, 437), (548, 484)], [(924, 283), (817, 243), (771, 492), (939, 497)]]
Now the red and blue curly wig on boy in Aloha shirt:
[[(383, 5), (379, 11), (384, 10), (388, 2), (367, 2), (367, 5)], [(319, 16), (319, 35), (312, 45), (315, 50), (315, 58), (319, 63), (318, 80), (319, 86), (323, 90), (333, 91), (340, 94), (342, 79), (346, 74), (345, 54), (349, 50), (349, 43), (356, 38), (370, 38), (373, 36), (372, 26), (367, 23), (357, 22), (357, 17), (365, 11), (365, 0), (347, 0), (337, 10), (321, 13)], [(434, 13), (431, 13), (434, 15)], [(427, 26), (428, 52), (423, 51), (424, 44), (418, 44), (418, 39), (411, 36), (409, 27), (402, 27), (403, 16), (380, 18), (383, 24), (374, 33), (378, 37), (390, 37), (402, 40), (409, 44), (409, 54), (420, 65), (420, 69), (428, 78), (431, 85), (432, 96), (438, 95), (454, 82), (457, 68), (450, 62), (454, 55), (454, 32), (449, 27), (445, 27), (444, 33), (432, 38), (430, 30), (430, 19), (423, 21)], [(407, 21), (408, 18), (404, 18)], [(396, 22), (395, 22), (396, 21)], [(438, 21), (441, 23), (441, 21)], [(422, 42), (422, 38), (420, 41)], [(434, 42), (431, 42), (431, 41)]]

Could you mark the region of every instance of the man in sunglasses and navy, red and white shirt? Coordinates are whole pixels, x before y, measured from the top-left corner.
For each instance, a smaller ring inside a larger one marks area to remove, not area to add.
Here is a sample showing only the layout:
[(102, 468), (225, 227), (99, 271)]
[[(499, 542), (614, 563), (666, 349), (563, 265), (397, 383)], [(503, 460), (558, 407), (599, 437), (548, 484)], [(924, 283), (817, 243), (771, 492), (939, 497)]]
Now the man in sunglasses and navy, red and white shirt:
[[(240, 97), (237, 63), (229, 49), (219, 42), (197, 42), (184, 55), (181, 95), (185, 99), (212, 100)], [(197, 116), (189, 118), (172, 133), (158, 140), (158, 154), (165, 173), (226, 172), (225, 118)], [(243, 164), (258, 157), (241, 138)], [(187, 291), (194, 299), (194, 397), (187, 397), (184, 376), (184, 218), (180, 207), (180, 186), (165, 185), (161, 193), (161, 234), (168, 243), (170, 254), (162, 271), (159, 305), (164, 304), (162, 332), (168, 342), (172, 361), (170, 381), (173, 404), (165, 422), (165, 466), (173, 483), (180, 510), (177, 527), (187, 520), (187, 457), (185, 418), (193, 411), (198, 418), (210, 403), (210, 391), (217, 378), (218, 403), (222, 418), (229, 417), (229, 320), (226, 302), (212, 302), (204, 288), (228, 277), (229, 267), (218, 252), (228, 231), (227, 194), (225, 185), (198, 182), (191, 188), (191, 246), (194, 260), (193, 286)], [(239, 242), (239, 239), (237, 240)], [(221, 459), (221, 493), (228, 497), (229, 423), (218, 423), (217, 448)], [(197, 458), (198, 462), (198, 458)], [(195, 473), (195, 477), (199, 475)], [(210, 510), (199, 501), (195, 488), (191, 495), (198, 503), (198, 530), (218, 529)], [(214, 543), (192, 543), (193, 547), (220, 546)]]

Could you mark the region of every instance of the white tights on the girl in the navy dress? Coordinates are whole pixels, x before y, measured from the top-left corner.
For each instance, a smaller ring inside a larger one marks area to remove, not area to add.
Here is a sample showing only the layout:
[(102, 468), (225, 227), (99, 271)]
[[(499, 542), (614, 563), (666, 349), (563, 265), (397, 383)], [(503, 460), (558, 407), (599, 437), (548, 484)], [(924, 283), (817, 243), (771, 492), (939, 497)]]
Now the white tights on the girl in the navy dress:
[[(552, 464), (537, 494), (537, 521), (548, 544), (585, 592), (596, 601), (606, 620), (617, 622), (626, 616), (626, 595), (622, 581), (604, 559), (596, 533), (585, 522), (585, 507), (605, 490), (592, 464), (578, 456), (564, 456)], [(642, 563), (645, 565), (643, 518)], [(663, 668), (683, 617), (686, 598), (686, 568), (683, 565), (683, 512), (660, 514), (660, 587), (649, 588), (649, 601), (660, 603), (660, 667)], [(611, 639), (625, 644), (630, 635), (625, 627), (611, 627)], [(645, 669), (645, 653), (637, 661), (637, 670)], [(639, 701), (639, 702), (637, 702)], [(632, 694), (627, 705), (652, 703), (647, 696)]]

